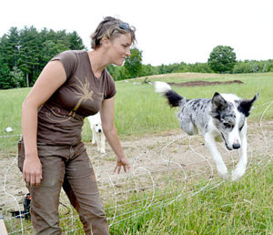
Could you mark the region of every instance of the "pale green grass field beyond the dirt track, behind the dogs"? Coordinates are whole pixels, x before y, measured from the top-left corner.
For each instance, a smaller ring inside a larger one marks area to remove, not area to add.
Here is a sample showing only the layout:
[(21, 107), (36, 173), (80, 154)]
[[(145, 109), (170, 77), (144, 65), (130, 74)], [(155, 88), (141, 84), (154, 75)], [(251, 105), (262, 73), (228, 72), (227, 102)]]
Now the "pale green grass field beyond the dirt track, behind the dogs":
[[(203, 75), (203, 77), (202, 77)], [(177, 76), (177, 77), (176, 77)], [(116, 128), (120, 136), (155, 133), (177, 128), (177, 117), (169, 111), (164, 99), (154, 92), (150, 85), (135, 85), (133, 82), (144, 81), (145, 77), (116, 82)], [(255, 106), (273, 100), (273, 74), (173, 74), (149, 77), (150, 81), (162, 80), (166, 82), (187, 82), (193, 80), (228, 81), (240, 80), (244, 84), (222, 85), (208, 87), (173, 87), (180, 95), (187, 98), (212, 97), (214, 92), (235, 93), (238, 97), (252, 98), (259, 93)], [(5, 128), (12, 127), (14, 134), (21, 134), (21, 105), (29, 88), (18, 88), (0, 91), (0, 135), (5, 135)], [(256, 113), (262, 112), (263, 107)], [(267, 116), (270, 119), (273, 116)], [(250, 116), (251, 118), (251, 116)], [(255, 118), (255, 117), (254, 117)], [(141, 128), (139, 128), (141, 127)], [(83, 139), (90, 139), (91, 135), (86, 126), (83, 129)]]

